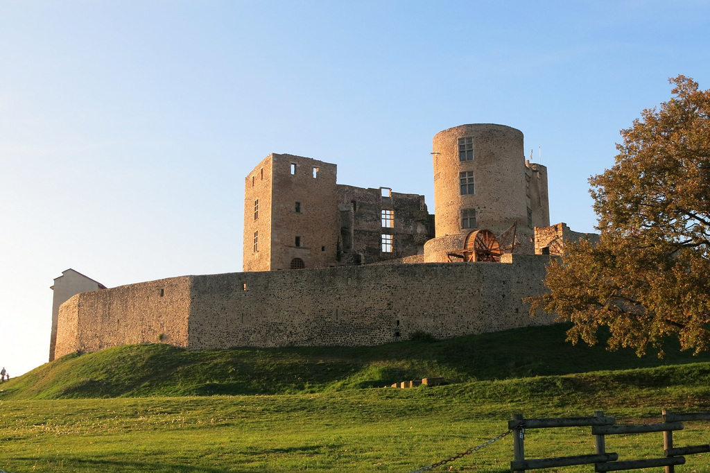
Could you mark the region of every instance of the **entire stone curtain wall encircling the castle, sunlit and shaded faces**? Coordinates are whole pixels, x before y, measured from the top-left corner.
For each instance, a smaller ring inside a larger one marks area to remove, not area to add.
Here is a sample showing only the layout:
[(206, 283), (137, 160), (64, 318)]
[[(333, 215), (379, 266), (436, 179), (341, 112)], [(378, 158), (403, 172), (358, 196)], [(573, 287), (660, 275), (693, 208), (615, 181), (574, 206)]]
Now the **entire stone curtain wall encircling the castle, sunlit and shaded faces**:
[(82, 293), (60, 309), (58, 357), (140, 342), (372, 345), (417, 331), (449, 338), (552, 323), (550, 314), (530, 318), (522, 302), (545, 290), (549, 258), (503, 261), (183, 276)]

